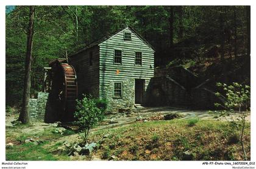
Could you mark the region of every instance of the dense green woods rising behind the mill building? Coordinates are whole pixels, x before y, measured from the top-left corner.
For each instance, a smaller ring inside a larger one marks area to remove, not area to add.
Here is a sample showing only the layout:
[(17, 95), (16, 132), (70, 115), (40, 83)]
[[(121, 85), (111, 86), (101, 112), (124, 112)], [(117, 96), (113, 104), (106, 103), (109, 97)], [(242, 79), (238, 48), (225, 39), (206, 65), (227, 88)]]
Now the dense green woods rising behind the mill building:
[[(185, 66), (202, 78), (250, 84), (249, 6), (36, 6), (30, 95), (43, 67), (125, 26), (155, 48), (155, 67)], [(6, 104), (20, 105), (29, 7), (6, 12)]]

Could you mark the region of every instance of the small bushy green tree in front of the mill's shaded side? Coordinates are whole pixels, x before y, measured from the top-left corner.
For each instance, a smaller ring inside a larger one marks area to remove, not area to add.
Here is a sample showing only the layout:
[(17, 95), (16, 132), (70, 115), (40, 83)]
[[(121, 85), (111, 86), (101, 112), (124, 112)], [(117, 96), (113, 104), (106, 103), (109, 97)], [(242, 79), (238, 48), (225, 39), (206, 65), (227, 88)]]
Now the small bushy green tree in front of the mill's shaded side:
[(104, 119), (104, 113), (96, 106), (89, 96), (77, 100), (76, 112), (74, 113), (76, 124), (84, 130), (84, 140), (87, 141), (89, 130)]

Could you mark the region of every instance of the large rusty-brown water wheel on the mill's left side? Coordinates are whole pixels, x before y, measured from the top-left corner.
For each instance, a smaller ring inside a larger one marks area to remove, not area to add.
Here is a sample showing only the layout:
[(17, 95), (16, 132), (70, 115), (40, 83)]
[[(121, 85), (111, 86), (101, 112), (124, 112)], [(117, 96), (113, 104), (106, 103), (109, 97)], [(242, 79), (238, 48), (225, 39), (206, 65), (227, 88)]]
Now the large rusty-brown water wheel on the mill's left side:
[(77, 78), (73, 66), (55, 60), (52, 67), (52, 86), (50, 100), (55, 111), (55, 120), (70, 122), (74, 120), (77, 98)]

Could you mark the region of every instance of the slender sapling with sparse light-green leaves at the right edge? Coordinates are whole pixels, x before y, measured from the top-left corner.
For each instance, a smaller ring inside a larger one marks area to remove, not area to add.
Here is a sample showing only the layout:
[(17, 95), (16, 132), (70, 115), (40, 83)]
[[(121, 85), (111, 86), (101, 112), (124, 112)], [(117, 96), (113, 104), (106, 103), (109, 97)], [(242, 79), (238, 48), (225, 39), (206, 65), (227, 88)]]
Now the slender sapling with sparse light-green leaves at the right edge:
[[(246, 150), (244, 148), (244, 128), (246, 127), (246, 117), (250, 109), (250, 86), (243, 86), (242, 84), (238, 83), (233, 83), (230, 86), (227, 86), (225, 83), (217, 83), (217, 86), (223, 88), (224, 95), (222, 95), (220, 92), (216, 92), (216, 96), (224, 98), (225, 102), (224, 104), (215, 103), (215, 106), (224, 109), (220, 114), (218, 111), (215, 111), (215, 113), (218, 113), (219, 117), (231, 117), (229, 122), (232, 124), (232, 126), (234, 126), (240, 135), (244, 159), (247, 160)], [(239, 116), (235, 119), (232, 116), (232, 113), (236, 111), (238, 111)]]

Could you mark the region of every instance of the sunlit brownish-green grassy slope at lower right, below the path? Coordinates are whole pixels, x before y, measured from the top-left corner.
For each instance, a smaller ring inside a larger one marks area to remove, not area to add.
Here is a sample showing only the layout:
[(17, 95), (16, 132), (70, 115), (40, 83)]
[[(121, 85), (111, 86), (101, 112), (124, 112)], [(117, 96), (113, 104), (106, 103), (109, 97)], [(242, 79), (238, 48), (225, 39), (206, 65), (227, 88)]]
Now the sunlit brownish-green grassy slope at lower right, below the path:
[[(240, 143), (230, 143), (229, 136), (233, 132), (227, 122), (177, 119), (103, 129), (90, 138), (97, 141), (105, 133), (110, 134), (95, 154), (115, 155), (119, 160), (183, 160), (185, 151), (193, 154), (193, 160), (243, 160)], [(245, 133), (247, 156), (250, 157), (249, 123)], [(110, 148), (113, 142), (115, 148)]]

